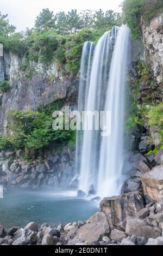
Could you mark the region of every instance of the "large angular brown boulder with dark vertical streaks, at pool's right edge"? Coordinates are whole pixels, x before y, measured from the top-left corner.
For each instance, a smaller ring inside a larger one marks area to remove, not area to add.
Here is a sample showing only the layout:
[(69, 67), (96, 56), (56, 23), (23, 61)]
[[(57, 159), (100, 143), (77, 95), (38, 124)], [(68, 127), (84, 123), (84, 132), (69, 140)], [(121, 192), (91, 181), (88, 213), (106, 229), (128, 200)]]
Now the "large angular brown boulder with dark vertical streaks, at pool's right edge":
[(100, 204), (101, 211), (105, 213), (110, 227), (126, 219), (127, 216), (134, 216), (145, 207), (143, 195), (140, 192), (130, 192), (117, 197), (104, 198)]

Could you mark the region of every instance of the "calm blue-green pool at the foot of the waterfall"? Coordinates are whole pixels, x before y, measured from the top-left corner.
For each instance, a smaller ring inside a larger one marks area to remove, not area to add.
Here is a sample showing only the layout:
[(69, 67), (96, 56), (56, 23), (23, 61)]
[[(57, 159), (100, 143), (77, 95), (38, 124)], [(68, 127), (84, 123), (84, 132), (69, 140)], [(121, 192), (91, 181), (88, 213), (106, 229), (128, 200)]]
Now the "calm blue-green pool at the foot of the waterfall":
[(0, 199), (0, 224), (5, 228), (84, 221), (97, 212), (99, 203), (65, 192), (10, 190)]

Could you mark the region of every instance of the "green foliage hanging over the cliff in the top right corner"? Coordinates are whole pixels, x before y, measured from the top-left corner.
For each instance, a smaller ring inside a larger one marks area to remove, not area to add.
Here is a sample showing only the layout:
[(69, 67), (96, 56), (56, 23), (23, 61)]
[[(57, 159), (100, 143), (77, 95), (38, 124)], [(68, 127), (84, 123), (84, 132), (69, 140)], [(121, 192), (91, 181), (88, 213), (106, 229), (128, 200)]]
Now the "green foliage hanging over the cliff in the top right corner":
[(141, 32), (141, 18), (147, 22), (162, 13), (163, 1), (162, 0), (125, 0), (122, 4), (123, 21), (131, 29), (133, 38), (138, 39)]

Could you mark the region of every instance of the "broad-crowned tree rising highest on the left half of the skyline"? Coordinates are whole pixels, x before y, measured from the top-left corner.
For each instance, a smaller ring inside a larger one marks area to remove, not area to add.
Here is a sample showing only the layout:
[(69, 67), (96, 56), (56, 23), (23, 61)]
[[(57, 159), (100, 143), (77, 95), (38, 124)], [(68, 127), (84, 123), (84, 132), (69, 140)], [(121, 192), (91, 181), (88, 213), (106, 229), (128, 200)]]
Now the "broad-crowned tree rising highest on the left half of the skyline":
[(42, 9), (39, 16), (35, 20), (35, 28), (42, 30), (43, 28), (52, 28), (55, 26), (53, 11), (48, 8)]

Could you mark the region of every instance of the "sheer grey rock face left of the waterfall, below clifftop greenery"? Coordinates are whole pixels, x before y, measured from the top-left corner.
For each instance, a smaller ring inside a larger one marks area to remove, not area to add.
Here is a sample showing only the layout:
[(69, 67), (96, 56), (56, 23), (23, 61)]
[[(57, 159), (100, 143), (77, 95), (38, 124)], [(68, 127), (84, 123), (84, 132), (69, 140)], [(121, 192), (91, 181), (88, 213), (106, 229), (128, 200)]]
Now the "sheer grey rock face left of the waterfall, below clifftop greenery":
[(11, 82), (11, 90), (0, 96), (0, 126), (5, 130), (9, 109), (36, 110), (39, 104), (47, 105), (65, 99), (69, 106), (77, 104), (78, 78), (64, 75), (56, 63), (49, 67), (30, 63), (30, 78), (20, 70), (21, 59), (12, 52), (0, 57), (0, 80)]

